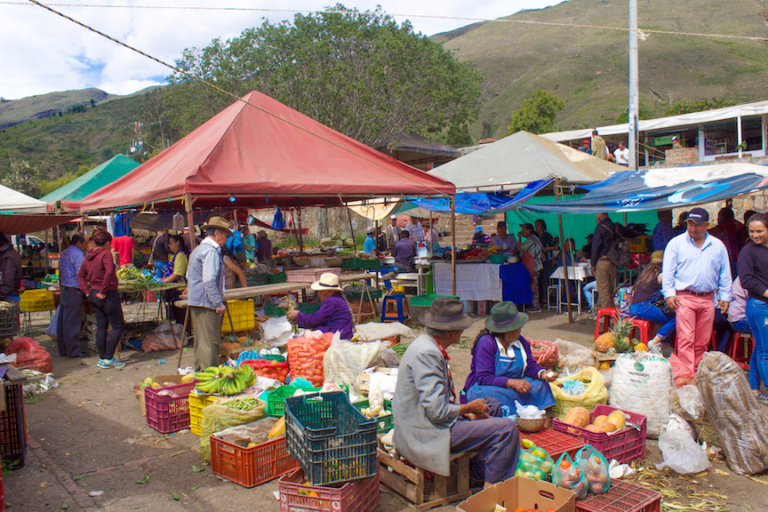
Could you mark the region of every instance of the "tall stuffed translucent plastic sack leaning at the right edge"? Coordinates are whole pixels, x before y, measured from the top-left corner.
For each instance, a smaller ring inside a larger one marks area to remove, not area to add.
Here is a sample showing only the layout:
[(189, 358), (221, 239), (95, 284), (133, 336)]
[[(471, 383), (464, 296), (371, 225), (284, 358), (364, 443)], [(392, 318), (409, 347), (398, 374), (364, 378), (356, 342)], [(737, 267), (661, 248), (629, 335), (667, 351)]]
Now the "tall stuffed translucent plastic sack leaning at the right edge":
[(722, 352), (707, 352), (696, 386), (731, 469), (742, 475), (768, 469), (768, 417), (739, 365)]

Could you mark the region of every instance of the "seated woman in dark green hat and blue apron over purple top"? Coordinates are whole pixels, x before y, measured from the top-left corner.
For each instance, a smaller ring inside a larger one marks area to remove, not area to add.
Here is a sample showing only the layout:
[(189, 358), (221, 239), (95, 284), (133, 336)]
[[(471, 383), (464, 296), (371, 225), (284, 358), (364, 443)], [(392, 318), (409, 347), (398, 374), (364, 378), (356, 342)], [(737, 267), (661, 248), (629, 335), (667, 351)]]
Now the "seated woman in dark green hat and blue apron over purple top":
[(493, 306), (472, 347), (472, 363), (464, 392), (468, 400), (495, 398), (515, 410), (515, 401), (547, 409), (555, 405), (548, 381), (555, 380), (533, 359), (531, 345), (520, 336), (528, 321), (513, 302)]

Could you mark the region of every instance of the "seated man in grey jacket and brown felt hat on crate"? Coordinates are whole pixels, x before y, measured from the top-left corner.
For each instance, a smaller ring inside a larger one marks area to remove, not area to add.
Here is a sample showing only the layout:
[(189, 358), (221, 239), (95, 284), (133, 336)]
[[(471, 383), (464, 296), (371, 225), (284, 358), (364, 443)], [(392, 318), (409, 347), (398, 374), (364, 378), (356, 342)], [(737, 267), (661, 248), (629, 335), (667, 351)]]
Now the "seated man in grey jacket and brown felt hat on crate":
[(395, 449), (412, 464), (448, 476), (451, 453), (476, 452), (485, 465), (486, 486), (514, 476), (520, 451), (517, 427), (498, 401), (456, 400), (446, 349), (458, 343), (472, 321), (461, 301), (438, 297), (422, 313), (426, 327), (400, 361), (395, 397)]

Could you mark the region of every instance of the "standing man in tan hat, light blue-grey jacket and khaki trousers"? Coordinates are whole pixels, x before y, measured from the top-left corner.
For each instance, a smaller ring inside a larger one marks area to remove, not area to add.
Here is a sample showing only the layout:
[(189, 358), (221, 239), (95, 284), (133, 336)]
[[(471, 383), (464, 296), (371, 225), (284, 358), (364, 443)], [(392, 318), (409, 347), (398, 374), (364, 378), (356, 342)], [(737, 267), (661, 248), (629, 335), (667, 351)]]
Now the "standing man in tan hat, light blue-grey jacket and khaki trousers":
[(229, 222), (211, 217), (203, 225), (205, 239), (189, 255), (187, 294), (195, 336), (195, 369), (219, 364), (221, 315), (224, 307), (224, 267), (221, 248), (232, 236)]

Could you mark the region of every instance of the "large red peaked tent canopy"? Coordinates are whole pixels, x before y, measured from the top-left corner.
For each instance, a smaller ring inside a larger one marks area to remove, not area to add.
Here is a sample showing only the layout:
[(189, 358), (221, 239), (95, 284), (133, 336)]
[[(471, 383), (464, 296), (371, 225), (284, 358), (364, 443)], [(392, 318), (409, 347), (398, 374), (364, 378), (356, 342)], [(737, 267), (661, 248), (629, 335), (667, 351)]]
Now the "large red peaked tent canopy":
[[(453, 195), (426, 174), (251, 92), (117, 181), (83, 211), (333, 206), (373, 196)], [(184, 200), (188, 199), (185, 205)]]

